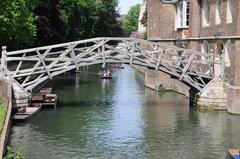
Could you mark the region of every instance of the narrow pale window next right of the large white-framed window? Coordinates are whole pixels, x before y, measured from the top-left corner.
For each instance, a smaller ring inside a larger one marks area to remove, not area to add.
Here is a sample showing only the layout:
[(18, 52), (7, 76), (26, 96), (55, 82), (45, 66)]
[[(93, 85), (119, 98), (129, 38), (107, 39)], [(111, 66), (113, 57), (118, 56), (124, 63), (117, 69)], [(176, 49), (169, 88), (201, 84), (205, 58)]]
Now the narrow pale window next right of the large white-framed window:
[(210, 0), (203, 0), (202, 5), (202, 26), (209, 26), (210, 19)]

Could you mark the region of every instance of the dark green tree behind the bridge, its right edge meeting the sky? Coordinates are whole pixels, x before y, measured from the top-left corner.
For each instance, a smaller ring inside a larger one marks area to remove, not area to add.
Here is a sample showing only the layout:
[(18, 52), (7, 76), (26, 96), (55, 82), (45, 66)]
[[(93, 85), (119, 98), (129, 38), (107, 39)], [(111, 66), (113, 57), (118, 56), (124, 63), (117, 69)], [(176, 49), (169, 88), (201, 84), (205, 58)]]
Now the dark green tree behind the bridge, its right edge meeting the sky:
[(67, 40), (120, 35), (117, 5), (117, 0), (60, 0)]

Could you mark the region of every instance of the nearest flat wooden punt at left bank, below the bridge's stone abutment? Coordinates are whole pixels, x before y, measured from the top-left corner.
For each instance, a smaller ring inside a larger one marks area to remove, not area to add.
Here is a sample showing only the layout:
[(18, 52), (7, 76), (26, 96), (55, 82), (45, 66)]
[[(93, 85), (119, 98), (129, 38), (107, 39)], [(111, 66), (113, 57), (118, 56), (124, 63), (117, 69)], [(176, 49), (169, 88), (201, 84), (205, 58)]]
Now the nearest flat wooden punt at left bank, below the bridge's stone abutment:
[(41, 108), (41, 106), (21, 108), (16, 114), (13, 115), (12, 119), (17, 122), (28, 121), (29, 119), (35, 117), (40, 112)]

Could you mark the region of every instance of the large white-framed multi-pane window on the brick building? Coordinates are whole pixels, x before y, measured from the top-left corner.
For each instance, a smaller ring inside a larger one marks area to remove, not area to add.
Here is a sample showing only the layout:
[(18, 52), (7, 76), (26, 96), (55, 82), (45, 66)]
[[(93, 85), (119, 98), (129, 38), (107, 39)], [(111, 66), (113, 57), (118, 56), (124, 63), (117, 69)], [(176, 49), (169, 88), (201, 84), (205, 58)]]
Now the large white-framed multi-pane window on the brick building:
[(182, 0), (177, 4), (177, 28), (189, 26), (189, 0)]

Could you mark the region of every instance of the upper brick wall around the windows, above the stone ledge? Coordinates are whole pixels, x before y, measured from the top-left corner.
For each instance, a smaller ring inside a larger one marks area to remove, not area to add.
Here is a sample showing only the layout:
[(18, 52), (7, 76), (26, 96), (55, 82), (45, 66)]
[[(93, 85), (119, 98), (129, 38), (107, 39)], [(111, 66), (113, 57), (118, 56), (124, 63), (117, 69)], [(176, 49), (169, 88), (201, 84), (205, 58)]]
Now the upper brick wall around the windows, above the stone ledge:
[[(233, 22), (227, 23), (227, 0), (222, 0), (221, 23), (216, 25), (216, 1), (211, 0), (209, 26), (202, 26), (201, 0), (190, 0), (189, 30), (175, 30), (176, 9), (174, 5), (162, 4), (160, 0), (148, 1), (148, 33), (152, 38), (209, 37), (220, 32), (221, 36), (240, 35), (240, 1), (233, 0)], [(188, 33), (189, 31), (189, 33)]]

